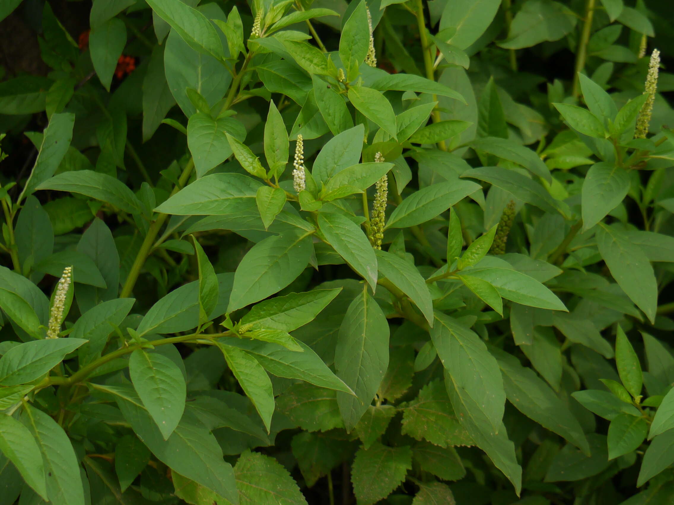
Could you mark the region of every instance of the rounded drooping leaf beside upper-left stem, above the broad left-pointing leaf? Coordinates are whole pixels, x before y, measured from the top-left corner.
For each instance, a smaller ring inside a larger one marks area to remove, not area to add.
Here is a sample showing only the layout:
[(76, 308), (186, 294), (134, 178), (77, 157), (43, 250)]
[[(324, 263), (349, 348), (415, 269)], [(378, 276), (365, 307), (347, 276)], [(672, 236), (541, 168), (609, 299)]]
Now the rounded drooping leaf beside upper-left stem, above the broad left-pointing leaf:
[(192, 154), (197, 177), (203, 177), (232, 155), (227, 133), (241, 140), (246, 135), (241, 123), (231, 118), (213, 119), (205, 112), (197, 112), (189, 118), (187, 145)]

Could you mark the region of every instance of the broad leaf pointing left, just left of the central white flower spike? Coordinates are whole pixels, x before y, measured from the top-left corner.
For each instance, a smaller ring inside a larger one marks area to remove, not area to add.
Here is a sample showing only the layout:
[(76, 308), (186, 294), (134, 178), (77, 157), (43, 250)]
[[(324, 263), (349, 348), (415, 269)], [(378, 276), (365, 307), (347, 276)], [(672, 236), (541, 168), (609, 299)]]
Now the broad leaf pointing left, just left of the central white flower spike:
[[(212, 174), (195, 180), (155, 210), (178, 215), (226, 215), (253, 202), (259, 182), (243, 174)], [(253, 204), (254, 205), (254, 204)]]

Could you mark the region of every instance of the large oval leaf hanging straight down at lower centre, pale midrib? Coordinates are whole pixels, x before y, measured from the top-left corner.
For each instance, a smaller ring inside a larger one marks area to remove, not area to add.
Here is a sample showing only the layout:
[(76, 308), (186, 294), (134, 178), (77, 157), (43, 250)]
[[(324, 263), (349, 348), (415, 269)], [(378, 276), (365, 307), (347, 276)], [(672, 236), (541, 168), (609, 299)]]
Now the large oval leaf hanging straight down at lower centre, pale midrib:
[[(364, 286), (365, 288), (365, 286)], [(335, 349), (337, 376), (356, 396), (337, 393), (337, 402), (350, 432), (375, 397), (388, 368), (388, 321), (367, 290), (346, 309)]]

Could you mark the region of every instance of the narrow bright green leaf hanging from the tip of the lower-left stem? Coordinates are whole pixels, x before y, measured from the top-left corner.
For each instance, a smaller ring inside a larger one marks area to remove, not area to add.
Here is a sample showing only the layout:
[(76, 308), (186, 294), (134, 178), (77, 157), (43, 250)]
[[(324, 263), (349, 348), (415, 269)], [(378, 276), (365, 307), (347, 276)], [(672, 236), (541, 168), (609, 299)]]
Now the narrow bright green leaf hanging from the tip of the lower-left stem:
[(274, 392), (272, 391), (272, 381), (267, 372), (246, 351), (220, 341), (216, 341), (216, 345), (224, 354), (227, 366), (239, 381), (241, 389), (255, 405), (255, 410), (259, 413), (259, 417), (262, 417), (264, 426), (269, 432), (272, 414), (274, 413)]

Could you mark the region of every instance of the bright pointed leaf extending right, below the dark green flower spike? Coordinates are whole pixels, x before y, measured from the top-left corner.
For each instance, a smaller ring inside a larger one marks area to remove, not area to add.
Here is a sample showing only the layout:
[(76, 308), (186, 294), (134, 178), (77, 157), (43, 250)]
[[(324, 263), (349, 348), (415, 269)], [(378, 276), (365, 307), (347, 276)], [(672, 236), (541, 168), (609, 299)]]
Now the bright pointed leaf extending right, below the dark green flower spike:
[(477, 266), (465, 269), (462, 273), (489, 282), (507, 300), (530, 307), (568, 312), (561, 300), (545, 285), (516, 270)]

